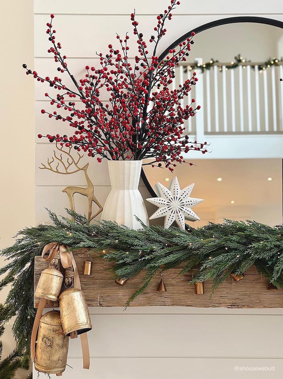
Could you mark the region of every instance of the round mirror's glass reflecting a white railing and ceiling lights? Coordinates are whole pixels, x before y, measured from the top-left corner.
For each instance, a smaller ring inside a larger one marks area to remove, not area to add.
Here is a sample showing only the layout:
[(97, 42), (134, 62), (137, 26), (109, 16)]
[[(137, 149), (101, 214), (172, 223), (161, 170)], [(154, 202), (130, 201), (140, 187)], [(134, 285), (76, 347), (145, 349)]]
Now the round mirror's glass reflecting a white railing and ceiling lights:
[(201, 219), (194, 227), (225, 218), (282, 222), (283, 23), (240, 19), (200, 27), (173, 78), (172, 89), (197, 72), (184, 105), (195, 99), (201, 109), (185, 121), (184, 133), (192, 143), (208, 143), (209, 152), (184, 153), (173, 172), (143, 166), (153, 196), (156, 182), (168, 187), (175, 176), (181, 189), (195, 183), (192, 197), (204, 201), (193, 208)]

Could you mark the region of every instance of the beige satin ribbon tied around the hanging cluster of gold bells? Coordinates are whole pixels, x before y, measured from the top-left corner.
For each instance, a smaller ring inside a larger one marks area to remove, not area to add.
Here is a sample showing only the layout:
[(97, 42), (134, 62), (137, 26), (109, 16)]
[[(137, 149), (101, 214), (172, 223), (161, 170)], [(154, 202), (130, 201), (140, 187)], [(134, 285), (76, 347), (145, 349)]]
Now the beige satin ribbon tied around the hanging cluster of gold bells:
[[(48, 256), (46, 257), (46, 253), (49, 251)], [(58, 252), (60, 252), (60, 260), (63, 268), (68, 268), (73, 266), (74, 269), (74, 288), (82, 289), (80, 285), (80, 277), (79, 277), (79, 270), (77, 268), (77, 264), (75, 263), (74, 255), (71, 251), (67, 251), (66, 247), (63, 244), (52, 242), (44, 246), (42, 250), (42, 260), (44, 262), (50, 261), (50, 267), (51, 262)], [(34, 361), (35, 359), (35, 340), (36, 340), (36, 334), (39, 327), (39, 320), (42, 316), (42, 312), (44, 310), (46, 304), (46, 299), (40, 299), (38, 304), (38, 309), (35, 316), (35, 322), (33, 324), (33, 330), (31, 333), (31, 341), (30, 341), (30, 354), (31, 359)], [(83, 368), (89, 369), (90, 368), (90, 349), (88, 346), (88, 337), (86, 333), (83, 333), (80, 335), (80, 343), (82, 345), (82, 354), (83, 354)]]

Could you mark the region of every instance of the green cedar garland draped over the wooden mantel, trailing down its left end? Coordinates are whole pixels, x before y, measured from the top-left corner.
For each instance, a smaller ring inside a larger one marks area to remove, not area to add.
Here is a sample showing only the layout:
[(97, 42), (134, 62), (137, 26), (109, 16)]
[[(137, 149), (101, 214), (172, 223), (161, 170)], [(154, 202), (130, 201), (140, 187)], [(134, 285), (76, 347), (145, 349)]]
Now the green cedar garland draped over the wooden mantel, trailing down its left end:
[[(17, 348), (25, 350), (29, 359), (30, 335), (35, 310), (33, 308), (34, 257), (41, 255), (45, 244), (63, 243), (70, 249), (89, 248), (102, 259), (113, 262), (113, 277), (131, 278), (145, 270), (143, 286), (128, 304), (148, 286), (159, 271), (185, 265), (180, 274), (198, 269), (192, 282), (212, 279), (217, 288), (232, 271), (244, 273), (255, 265), (278, 288), (283, 287), (283, 227), (270, 227), (255, 221), (225, 220), (199, 229), (181, 230), (175, 227), (144, 226), (132, 230), (115, 222), (90, 224), (87, 219), (67, 210), (73, 220), (58, 218), (49, 212), (54, 226), (41, 224), (18, 233), (13, 246), (2, 250), (9, 262), (0, 269), (8, 275), (0, 288), (13, 282), (6, 301), (4, 321), (16, 316), (13, 326)], [(107, 251), (101, 254), (101, 251)]]

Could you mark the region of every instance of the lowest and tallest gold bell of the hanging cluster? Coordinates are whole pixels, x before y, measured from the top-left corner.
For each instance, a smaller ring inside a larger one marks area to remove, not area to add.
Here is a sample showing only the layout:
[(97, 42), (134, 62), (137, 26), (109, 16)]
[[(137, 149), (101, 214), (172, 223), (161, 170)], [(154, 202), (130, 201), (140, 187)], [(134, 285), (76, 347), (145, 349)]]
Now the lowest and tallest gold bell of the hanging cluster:
[(69, 337), (64, 335), (60, 313), (50, 311), (39, 321), (35, 352), (35, 369), (48, 374), (61, 374), (67, 364)]

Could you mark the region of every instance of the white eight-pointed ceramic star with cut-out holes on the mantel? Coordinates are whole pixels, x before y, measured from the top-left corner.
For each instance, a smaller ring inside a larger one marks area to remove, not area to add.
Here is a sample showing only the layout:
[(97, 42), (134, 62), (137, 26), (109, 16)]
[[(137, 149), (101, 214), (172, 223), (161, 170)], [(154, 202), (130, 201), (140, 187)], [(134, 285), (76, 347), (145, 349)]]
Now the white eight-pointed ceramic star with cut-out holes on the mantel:
[(189, 221), (200, 220), (195, 212), (190, 209), (203, 201), (203, 199), (190, 197), (194, 185), (195, 183), (192, 183), (181, 190), (177, 177), (171, 180), (169, 188), (157, 182), (154, 189), (159, 197), (151, 197), (146, 200), (159, 209), (149, 219), (165, 216), (165, 228), (169, 228), (176, 221), (181, 229), (185, 229), (185, 219)]

